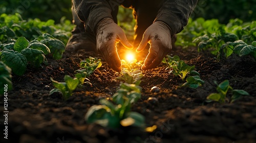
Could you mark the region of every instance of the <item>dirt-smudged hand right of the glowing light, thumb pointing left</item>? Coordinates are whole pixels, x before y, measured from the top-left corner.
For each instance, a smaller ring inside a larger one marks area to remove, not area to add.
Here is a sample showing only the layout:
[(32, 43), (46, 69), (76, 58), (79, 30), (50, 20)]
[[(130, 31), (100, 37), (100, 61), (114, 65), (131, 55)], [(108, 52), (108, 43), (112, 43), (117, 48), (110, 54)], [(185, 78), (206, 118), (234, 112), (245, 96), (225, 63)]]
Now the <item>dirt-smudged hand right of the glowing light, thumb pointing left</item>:
[(142, 69), (151, 69), (159, 65), (167, 53), (172, 49), (171, 30), (162, 21), (155, 21), (146, 29), (143, 38), (137, 48), (137, 52), (141, 52), (147, 43), (150, 43), (150, 50)]

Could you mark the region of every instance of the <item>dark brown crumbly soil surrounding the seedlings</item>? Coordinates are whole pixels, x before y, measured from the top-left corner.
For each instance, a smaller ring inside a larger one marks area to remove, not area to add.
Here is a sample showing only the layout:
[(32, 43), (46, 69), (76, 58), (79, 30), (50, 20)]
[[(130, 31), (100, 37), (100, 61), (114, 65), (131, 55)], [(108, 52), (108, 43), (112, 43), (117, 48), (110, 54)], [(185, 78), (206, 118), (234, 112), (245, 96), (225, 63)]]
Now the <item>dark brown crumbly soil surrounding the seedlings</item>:
[[(168, 74), (164, 64), (143, 71), (142, 98), (132, 110), (145, 116), (146, 127), (157, 126), (148, 133), (136, 127), (108, 129), (84, 120), (92, 105), (110, 98), (119, 86), (115, 79), (119, 74), (104, 60), (89, 77), (92, 85), (77, 88), (67, 101), (59, 93), (49, 95), (54, 88), (50, 77), (63, 82), (65, 75), (74, 77), (81, 60), (89, 56), (102, 59), (83, 50), (67, 55), (60, 60), (48, 57), (48, 65), (29, 67), (25, 75), (13, 76), (13, 90), (8, 91), (8, 139), (2, 136), (5, 125), (1, 122), (1, 142), (256, 142), (256, 62), (250, 57), (232, 56), (218, 62), (215, 56), (198, 53), (195, 47), (173, 50), (171, 56), (196, 65), (205, 81), (197, 89), (180, 87), (184, 81)], [(204, 102), (216, 92), (214, 81), (224, 80), (250, 96), (233, 103)], [(160, 92), (151, 92), (153, 86)], [(147, 100), (150, 97), (157, 100)], [(0, 106), (3, 113), (3, 100)]]

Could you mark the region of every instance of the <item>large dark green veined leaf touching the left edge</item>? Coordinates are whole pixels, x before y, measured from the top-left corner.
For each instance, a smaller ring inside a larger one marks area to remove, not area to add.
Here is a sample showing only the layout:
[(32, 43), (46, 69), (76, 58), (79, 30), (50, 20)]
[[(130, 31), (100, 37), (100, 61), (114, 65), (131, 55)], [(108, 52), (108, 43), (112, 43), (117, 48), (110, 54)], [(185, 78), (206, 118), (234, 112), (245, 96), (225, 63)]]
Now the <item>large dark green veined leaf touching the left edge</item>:
[(22, 76), (27, 69), (26, 57), (17, 51), (3, 50), (1, 60), (12, 69), (15, 75)]

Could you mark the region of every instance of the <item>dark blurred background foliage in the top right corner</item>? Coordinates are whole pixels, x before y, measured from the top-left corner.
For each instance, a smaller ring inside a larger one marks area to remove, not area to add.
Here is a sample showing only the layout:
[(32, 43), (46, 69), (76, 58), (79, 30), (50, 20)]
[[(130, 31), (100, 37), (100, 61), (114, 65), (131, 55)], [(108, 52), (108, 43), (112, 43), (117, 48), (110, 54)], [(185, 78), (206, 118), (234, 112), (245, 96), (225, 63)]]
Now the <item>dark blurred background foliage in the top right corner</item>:
[(251, 21), (256, 17), (256, 5), (253, 5), (255, 3), (255, 0), (199, 0), (191, 17), (218, 18), (221, 23), (228, 23), (232, 18)]

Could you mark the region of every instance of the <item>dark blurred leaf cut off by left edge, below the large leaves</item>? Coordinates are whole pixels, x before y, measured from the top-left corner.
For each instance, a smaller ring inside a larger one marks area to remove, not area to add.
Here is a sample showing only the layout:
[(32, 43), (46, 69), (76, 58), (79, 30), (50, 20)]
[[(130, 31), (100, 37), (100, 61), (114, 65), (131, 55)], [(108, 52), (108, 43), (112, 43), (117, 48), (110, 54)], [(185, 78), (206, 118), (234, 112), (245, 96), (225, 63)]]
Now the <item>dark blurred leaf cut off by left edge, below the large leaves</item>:
[(4, 95), (4, 85), (8, 85), (8, 90), (12, 90), (12, 75), (11, 68), (9, 68), (5, 63), (0, 61), (0, 95)]

